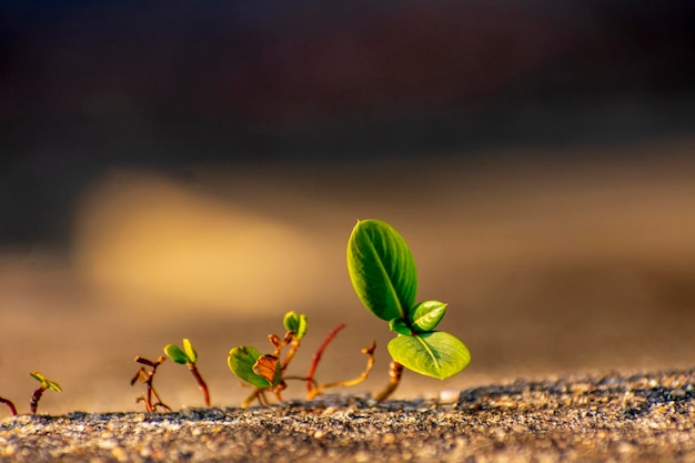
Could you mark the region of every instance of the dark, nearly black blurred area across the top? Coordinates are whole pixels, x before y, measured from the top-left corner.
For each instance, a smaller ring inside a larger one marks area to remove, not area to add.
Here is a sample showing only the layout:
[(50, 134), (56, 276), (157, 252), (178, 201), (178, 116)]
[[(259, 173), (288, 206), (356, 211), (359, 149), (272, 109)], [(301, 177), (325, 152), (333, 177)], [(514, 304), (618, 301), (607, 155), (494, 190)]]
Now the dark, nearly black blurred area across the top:
[(0, 245), (110, 169), (692, 135), (694, 51), (692, 1), (4, 1)]

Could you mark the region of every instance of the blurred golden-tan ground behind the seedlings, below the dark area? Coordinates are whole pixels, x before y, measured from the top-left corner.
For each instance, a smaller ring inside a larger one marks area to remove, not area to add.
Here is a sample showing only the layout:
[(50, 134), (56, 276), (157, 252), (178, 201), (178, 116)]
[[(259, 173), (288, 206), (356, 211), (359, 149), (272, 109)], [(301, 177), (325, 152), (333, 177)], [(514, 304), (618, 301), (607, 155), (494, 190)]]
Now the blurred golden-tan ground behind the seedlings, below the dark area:
[[(441, 325), (472, 363), (440, 382), (405, 374), (396, 399), (568, 373), (688, 368), (695, 352), (695, 141), (604, 150), (504, 151), (344, 165), (195, 165), (185, 177), (114, 171), (75, 203), (69, 249), (0, 254), (0, 395), (28, 411), (39, 370), (61, 384), (48, 413), (138, 411), (135, 355), (190, 338), (214, 406), (248, 394), (233, 346), (268, 348), (285, 311), (310, 328), (293, 372), (348, 328), (319, 369), (387, 380), (387, 326), (352, 292), (356, 219), (392, 223), (420, 272), (419, 299), (450, 303)], [(628, 159), (628, 161), (625, 161)], [(523, 160), (523, 162), (521, 161)], [(155, 382), (174, 409), (202, 400), (185, 368)], [(340, 392), (340, 391), (339, 391)], [(290, 385), (285, 397), (302, 397)], [(0, 410), (3, 416), (4, 410)]]

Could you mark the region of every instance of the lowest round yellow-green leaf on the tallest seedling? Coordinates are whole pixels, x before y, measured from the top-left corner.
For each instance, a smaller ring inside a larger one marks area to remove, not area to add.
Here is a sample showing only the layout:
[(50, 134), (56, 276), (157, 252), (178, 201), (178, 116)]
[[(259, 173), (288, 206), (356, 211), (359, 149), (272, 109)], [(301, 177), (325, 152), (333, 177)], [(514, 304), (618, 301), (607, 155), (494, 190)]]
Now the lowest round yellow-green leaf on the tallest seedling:
[(457, 374), (471, 362), (465, 344), (443, 331), (399, 336), (389, 342), (387, 349), (393, 360), (406, 369), (440, 380)]

